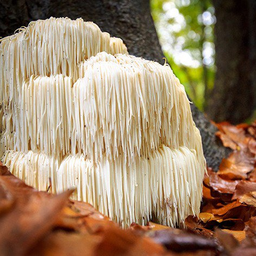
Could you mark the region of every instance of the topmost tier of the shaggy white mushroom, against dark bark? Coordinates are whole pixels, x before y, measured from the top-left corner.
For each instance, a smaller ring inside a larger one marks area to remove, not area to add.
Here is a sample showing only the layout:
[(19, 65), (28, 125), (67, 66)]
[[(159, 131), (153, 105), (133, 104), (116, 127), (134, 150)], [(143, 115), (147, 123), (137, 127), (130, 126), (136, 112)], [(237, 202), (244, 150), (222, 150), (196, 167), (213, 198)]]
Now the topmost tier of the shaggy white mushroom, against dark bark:
[(78, 78), (78, 65), (97, 53), (127, 53), (120, 38), (111, 38), (93, 22), (53, 18), (29, 23), (0, 39), (0, 102), (19, 98), (23, 82), (34, 76), (62, 74)]

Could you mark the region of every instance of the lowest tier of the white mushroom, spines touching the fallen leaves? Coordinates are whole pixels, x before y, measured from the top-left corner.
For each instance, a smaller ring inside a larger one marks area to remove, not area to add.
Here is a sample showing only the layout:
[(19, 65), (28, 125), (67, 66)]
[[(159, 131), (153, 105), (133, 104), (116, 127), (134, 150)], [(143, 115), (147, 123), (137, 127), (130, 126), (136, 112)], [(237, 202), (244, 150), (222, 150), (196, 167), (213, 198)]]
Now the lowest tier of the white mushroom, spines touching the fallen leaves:
[(153, 216), (175, 226), (186, 216), (197, 215), (204, 175), (197, 158), (195, 150), (163, 145), (130, 165), (122, 155), (94, 164), (83, 155), (58, 161), (43, 153), (12, 150), (5, 152), (2, 161), (15, 176), (39, 190), (76, 188), (74, 199), (92, 204), (126, 227), (132, 222), (146, 224)]

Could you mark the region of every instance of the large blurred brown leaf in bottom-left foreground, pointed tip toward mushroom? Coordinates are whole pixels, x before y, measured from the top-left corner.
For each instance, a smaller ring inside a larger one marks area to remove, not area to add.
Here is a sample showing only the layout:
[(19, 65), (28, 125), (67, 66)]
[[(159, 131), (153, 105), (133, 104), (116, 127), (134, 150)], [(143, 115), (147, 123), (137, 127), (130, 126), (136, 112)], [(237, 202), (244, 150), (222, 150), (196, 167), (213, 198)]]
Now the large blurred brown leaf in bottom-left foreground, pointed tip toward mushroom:
[[(1, 183), (1, 182), (0, 182)], [(42, 197), (41, 192), (25, 194), (22, 203), (16, 202), (8, 214), (0, 217), (0, 251), (3, 255), (24, 255), (57, 221), (57, 212), (68, 202), (70, 192)], [(10, 246), (15, 245), (15, 246)]]

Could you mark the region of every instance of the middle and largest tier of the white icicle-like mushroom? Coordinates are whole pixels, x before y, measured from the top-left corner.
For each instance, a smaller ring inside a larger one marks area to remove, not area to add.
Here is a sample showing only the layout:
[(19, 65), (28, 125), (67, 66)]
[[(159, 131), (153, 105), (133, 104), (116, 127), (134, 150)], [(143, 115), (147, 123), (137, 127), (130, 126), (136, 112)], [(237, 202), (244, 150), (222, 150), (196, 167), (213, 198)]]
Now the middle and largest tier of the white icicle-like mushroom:
[(63, 75), (25, 80), (19, 99), (2, 108), (1, 148), (95, 162), (124, 154), (130, 163), (162, 144), (185, 146), (204, 168), (190, 103), (168, 65), (101, 52), (80, 64), (80, 77), (74, 84)]

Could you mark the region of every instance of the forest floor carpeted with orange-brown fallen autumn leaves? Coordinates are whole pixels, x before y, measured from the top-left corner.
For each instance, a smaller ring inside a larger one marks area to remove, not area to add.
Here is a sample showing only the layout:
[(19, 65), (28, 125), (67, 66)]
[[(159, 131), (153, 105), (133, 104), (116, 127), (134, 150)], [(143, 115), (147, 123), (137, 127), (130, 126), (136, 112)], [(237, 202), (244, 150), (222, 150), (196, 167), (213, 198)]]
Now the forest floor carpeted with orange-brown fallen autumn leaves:
[(216, 126), (233, 152), (217, 173), (208, 168), (200, 214), (182, 229), (123, 230), (71, 191), (36, 191), (1, 165), (1, 255), (256, 255), (256, 123)]

